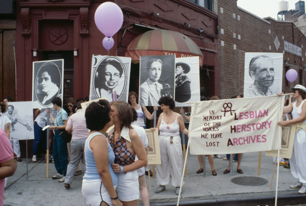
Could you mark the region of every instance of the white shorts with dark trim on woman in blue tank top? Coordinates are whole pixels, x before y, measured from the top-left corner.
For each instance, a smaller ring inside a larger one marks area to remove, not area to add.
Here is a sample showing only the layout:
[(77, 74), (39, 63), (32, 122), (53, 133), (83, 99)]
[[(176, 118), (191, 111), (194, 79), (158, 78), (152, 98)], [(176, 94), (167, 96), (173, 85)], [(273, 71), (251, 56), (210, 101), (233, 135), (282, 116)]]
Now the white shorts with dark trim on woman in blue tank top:
[[(114, 189), (116, 189), (116, 186), (114, 186)], [(82, 195), (87, 206), (99, 206), (102, 200), (106, 204), (113, 206), (110, 195), (101, 180), (86, 181), (83, 179)]]

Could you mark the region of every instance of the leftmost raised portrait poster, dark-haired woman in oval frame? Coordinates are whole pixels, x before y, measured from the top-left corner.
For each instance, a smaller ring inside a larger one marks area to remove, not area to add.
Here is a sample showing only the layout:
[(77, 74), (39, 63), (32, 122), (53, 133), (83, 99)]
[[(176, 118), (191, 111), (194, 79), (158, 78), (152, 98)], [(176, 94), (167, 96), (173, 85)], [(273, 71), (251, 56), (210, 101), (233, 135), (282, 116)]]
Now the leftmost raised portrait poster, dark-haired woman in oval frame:
[(33, 62), (33, 108), (52, 107), (52, 99), (63, 94), (64, 60)]

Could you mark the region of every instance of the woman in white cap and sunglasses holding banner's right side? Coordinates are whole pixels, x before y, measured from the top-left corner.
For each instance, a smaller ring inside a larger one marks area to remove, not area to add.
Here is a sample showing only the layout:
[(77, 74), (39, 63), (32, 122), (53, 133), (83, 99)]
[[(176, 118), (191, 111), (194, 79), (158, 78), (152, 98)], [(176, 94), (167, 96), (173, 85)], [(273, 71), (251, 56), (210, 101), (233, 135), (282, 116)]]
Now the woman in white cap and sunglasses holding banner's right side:
[[(292, 112), (292, 120), (279, 121), (279, 126), (286, 126), (287, 124), (298, 124), (300, 129), (296, 129), (293, 143), (292, 157), (290, 159), (291, 174), (298, 182), (291, 185), (290, 188), (298, 189), (299, 194), (306, 193), (306, 88), (297, 84), (293, 90), (293, 97), (297, 100), (284, 108), (283, 113)], [(282, 93), (277, 94), (281, 96)]]

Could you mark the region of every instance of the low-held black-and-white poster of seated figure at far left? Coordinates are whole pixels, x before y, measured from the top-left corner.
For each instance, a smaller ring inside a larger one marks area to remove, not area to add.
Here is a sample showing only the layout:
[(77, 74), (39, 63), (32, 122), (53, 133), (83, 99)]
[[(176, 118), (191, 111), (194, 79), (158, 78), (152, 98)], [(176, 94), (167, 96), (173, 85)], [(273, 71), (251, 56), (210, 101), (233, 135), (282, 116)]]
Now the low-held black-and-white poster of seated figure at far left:
[(11, 120), (10, 139), (34, 139), (32, 101), (8, 102), (4, 114)]

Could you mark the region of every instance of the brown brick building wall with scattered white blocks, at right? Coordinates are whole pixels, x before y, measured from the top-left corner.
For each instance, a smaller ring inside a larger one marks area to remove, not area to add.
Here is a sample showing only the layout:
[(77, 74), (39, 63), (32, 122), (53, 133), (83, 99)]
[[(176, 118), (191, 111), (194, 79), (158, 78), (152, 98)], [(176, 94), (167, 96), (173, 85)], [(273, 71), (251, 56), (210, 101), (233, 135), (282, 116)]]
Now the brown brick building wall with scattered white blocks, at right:
[[(293, 21), (278, 21), (271, 17), (262, 19), (237, 6), (237, 0), (218, 1), (218, 37), (220, 60), (220, 97), (230, 98), (244, 89), (244, 55), (246, 52), (283, 53), (282, 91), (296, 84), (305, 85), (306, 37)], [(279, 41), (277, 49), (274, 41)], [(301, 57), (284, 49), (284, 40), (301, 47)], [(298, 78), (293, 83), (285, 80), (285, 70), (295, 69)]]

